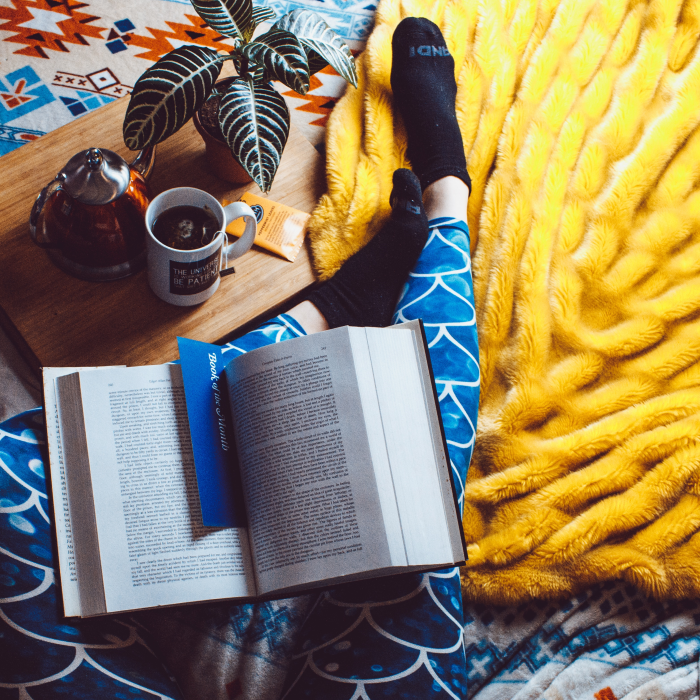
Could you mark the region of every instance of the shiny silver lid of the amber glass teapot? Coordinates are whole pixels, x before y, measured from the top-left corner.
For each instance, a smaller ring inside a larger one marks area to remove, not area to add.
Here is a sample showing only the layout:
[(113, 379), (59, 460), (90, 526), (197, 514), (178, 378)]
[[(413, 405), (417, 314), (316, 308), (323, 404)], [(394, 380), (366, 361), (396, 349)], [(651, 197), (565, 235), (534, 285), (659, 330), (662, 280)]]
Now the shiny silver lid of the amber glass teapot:
[(65, 192), (83, 204), (107, 204), (121, 197), (131, 179), (126, 161), (106, 148), (76, 153), (61, 173)]

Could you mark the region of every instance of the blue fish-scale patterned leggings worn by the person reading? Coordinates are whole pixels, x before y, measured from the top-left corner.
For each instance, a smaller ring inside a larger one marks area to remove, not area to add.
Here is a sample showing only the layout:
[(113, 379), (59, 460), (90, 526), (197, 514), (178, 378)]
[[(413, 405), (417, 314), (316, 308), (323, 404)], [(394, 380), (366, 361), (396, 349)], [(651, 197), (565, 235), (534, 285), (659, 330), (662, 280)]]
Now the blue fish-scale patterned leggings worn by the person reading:
[[(464, 221), (430, 222), (394, 322), (416, 318), (423, 319), (428, 336), (462, 506), (479, 403)], [(224, 351), (233, 356), (303, 334), (293, 318), (282, 315)], [(0, 698), (179, 697), (157, 669), (138, 621), (116, 616), (67, 624), (59, 616), (41, 440), (39, 412), (0, 426)], [(233, 608), (250, 619), (265, 605)], [(301, 629), (284, 697), (437, 700), (465, 698), (466, 690), (462, 598), (454, 568), (321, 593)], [(238, 697), (238, 691), (228, 694)]]

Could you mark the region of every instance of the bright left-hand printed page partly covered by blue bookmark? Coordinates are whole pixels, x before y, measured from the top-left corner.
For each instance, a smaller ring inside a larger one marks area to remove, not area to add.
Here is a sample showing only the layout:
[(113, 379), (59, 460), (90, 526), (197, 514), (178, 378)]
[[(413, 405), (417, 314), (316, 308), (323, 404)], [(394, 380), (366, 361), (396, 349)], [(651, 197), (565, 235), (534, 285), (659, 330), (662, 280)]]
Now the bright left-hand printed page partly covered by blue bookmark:
[(254, 595), (245, 530), (202, 524), (180, 367), (80, 385), (107, 611)]

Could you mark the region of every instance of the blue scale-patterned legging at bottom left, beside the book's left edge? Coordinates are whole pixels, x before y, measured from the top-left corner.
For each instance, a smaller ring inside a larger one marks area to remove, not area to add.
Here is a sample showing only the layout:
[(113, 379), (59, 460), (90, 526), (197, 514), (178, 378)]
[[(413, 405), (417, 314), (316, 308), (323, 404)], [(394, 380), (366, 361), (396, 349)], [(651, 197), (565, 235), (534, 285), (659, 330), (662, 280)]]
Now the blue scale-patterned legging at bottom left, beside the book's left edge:
[(130, 615), (62, 617), (44, 436), (41, 409), (0, 424), (0, 697), (181, 700)]

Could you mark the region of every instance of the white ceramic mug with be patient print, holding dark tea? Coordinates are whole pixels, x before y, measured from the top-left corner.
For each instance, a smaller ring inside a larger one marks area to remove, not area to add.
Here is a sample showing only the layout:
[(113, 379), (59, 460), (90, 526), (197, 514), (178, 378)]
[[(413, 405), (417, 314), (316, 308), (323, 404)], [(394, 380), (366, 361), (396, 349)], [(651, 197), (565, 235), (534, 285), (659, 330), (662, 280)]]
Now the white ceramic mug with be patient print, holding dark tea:
[[(177, 250), (161, 243), (153, 235), (155, 220), (173, 207), (193, 206), (208, 209), (219, 222), (219, 232), (211, 243), (195, 250)], [(226, 244), (226, 227), (243, 217), (243, 235)], [(154, 294), (176, 306), (194, 306), (206, 301), (219, 288), (229, 260), (250, 250), (255, 240), (257, 222), (253, 210), (243, 202), (226, 208), (210, 194), (194, 187), (175, 187), (159, 194), (146, 210), (146, 256), (148, 283)]]

